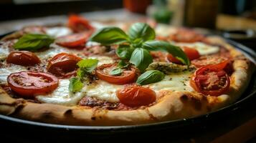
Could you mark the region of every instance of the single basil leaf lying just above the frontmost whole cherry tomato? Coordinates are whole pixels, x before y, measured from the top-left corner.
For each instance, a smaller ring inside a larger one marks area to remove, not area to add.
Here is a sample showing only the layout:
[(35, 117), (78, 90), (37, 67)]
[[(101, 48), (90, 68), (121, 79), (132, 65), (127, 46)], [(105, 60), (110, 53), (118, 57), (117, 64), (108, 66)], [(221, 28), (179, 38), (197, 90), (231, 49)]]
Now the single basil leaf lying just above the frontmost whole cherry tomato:
[(163, 80), (164, 74), (158, 70), (146, 71), (138, 77), (136, 83), (138, 85), (152, 84)]

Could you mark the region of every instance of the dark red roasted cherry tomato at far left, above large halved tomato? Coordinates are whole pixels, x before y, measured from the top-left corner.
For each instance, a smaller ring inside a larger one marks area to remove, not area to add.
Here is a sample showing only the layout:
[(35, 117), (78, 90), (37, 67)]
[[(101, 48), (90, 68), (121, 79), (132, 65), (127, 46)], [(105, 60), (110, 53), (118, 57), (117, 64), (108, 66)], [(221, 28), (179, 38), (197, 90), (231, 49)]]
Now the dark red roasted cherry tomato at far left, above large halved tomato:
[(30, 51), (12, 51), (7, 56), (6, 62), (22, 66), (33, 66), (41, 63), (37, 55)]

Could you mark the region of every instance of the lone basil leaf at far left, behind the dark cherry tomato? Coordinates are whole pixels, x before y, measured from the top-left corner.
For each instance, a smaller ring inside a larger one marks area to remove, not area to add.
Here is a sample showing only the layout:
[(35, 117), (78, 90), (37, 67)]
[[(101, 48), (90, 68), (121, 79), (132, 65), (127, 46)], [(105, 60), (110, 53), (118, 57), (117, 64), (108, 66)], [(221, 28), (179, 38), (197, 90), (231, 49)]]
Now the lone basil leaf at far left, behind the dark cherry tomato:
[(52, 44), (54, 39), (46, 34), (26, 34), (14, 44), (14, 49), (37, 50)]

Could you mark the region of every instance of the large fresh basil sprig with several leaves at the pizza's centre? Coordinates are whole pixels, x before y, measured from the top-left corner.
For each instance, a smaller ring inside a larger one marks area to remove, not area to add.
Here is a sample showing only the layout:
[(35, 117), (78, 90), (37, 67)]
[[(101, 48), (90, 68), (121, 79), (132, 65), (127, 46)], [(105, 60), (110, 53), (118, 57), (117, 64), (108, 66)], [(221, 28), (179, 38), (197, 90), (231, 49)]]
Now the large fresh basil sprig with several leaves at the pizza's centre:
[(165, 51), (173, 54), (182, 63), (189, 66), (189, 59), (179, 46), (167, 42), (153, 40), (156, 37), (155, 31), (144, 23), (133, 24), (128, 34), (117, 27), (105, 27), (90, 37), (90, 41), (97, 41), (100, 44), (120, 44), (116, 54), (120, 59), (130, 61), (138, 67), (141, 72), (145, 71), (153, 58), (149, 51)]

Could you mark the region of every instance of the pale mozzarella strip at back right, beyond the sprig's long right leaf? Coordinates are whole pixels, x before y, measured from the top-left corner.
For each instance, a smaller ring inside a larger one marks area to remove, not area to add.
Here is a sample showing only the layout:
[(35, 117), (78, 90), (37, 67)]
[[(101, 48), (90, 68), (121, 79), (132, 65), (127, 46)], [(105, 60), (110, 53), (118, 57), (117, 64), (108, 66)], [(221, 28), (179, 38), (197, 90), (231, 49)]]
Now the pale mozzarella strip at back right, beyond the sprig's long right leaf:
[(199, 54), (214, 54), (219, 51), (219, 46), (212, 46), (208, 44), (204, 44), (202, 42), (195, 42), (195, 43), (175, 43), (177, 46), (188, 46), (189, 48), (194, 48), (199, 51)]

